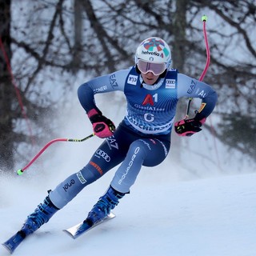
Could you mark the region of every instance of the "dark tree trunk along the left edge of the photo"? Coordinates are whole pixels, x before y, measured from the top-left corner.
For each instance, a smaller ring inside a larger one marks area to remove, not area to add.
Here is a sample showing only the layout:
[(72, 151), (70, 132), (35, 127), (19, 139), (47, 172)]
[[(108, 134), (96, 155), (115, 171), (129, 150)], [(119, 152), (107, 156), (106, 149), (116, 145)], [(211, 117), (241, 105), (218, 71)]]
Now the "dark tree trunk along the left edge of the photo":
[(0, 169), (13, 170), (12, 105), (15, 99), (14, 86), (8, 71), (10, 61), (10, 0), (0, 0)]

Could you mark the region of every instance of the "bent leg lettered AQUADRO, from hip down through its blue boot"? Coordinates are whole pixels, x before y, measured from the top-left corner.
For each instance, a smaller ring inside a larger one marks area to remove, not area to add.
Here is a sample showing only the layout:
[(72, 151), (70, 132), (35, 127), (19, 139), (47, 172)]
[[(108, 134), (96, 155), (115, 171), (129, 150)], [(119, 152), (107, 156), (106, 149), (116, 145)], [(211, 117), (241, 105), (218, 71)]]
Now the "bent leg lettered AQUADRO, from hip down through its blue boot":
[(130, 192), (130, 186), (134, 184), (142, 165), (158, 165), (166, 158), (169, 149), (170, 142), (163, 143), (158, 139), (134, 141), (130, 145), (125, 160), (114, 175), (110, 188), (98, 199), (86, 221), (94, 224), (106, 218), (110, 210), (118, 205), (119, 199)]

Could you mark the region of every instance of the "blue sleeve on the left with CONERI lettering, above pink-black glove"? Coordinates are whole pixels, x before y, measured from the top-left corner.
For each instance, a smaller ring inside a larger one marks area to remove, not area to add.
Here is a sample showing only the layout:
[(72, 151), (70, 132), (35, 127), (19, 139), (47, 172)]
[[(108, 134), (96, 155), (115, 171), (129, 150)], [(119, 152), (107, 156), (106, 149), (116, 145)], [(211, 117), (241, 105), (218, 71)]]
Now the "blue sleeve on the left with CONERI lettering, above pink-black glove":
[(119, 70), (83, 83), (78, 87), (78, 99), (86, 113), (97, 109), (94, 94), (102, 94), (114, 90), (124, 90), (126, 77), (130, 70)]

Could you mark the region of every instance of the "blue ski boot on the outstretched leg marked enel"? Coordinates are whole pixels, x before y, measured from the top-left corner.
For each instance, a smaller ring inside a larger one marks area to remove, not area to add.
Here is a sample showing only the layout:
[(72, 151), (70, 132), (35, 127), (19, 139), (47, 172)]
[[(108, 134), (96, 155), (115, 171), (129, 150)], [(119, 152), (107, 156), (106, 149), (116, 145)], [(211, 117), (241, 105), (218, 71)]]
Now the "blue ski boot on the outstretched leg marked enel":
[(58, 210), (59, 209), (50, 201), (49, 196), (47, 196), (43, 203), (40, 203), (34, 210), (34, 213), (27, 217), (26, 222), (22, 226), (22, 230), (20, 230), (21, 233), (25, 237), (34, 233), (42, 224), (48, 222)]

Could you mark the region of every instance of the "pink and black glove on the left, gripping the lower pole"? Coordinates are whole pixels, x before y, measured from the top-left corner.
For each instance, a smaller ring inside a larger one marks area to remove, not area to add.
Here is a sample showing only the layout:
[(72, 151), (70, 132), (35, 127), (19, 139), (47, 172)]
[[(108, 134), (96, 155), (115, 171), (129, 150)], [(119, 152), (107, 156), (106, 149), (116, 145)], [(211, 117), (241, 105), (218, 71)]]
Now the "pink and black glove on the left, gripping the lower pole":
[(99, 138), (107, 138), (113, 135), (115, 130), (114, 123), (102, 115), (100, 110), (90, 110), (87, 115), (93, 125), (94, 134), (96, 136)]

